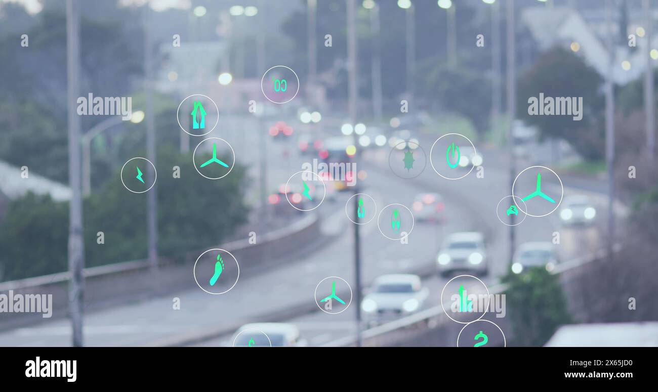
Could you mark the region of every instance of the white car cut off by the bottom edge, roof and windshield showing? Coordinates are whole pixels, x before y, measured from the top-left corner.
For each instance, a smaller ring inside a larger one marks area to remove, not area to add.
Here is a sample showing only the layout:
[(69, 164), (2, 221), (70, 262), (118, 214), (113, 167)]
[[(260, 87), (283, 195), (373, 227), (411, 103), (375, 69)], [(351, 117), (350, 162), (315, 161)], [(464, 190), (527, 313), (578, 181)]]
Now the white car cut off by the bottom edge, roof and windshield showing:
[[(243, 331), (244, 333), (241, 333)], [(265, 333), (267, 337), (259, 331)], [(245, 324), (238, 328), (230, 341), (233, 347), (269, 347), (270, 343), (272, 347), (306, 347), (307, 345), (305, 339), (299, 336), (299, 328), (293, 324), (278, 322)]]

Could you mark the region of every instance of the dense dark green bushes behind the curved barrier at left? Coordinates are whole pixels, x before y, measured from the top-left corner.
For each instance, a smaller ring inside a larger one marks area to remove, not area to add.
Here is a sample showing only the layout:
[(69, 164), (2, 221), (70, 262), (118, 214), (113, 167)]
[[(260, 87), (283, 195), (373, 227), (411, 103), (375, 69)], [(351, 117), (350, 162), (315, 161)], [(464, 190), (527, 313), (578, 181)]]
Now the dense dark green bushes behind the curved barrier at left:
[[(173, 166), (180, 166), (180, 178), (173, 178)], [(242, 166), (234, 166), (221, 181), (210, 181), (199, 176), (189, 155), (161, 149), (157, 167), (161, 256), (178, 258), (186, 251), (218, 245), (247, 221)], [(85, 199), (83, 217), (86, 266), (147, 256), (146, 193), (124, 188), (120, 170)], [(105, 233), (105, 244), (97, 244), (97, 232)], [(3, 279), (66, 270), (67, 240), (68, 203), (32, 193), (12, 201), (0, 224)]]

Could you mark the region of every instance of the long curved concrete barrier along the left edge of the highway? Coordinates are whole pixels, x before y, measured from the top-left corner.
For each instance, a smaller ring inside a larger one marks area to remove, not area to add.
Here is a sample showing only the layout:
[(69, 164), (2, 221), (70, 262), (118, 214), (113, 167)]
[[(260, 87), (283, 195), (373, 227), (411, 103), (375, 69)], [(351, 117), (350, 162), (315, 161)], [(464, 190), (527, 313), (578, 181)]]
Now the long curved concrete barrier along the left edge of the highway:
[[(209, 245), (198, 251), (186, 253), (183, 261), (160, 258), (159, 268), (149, 268), (148, 260), (118, 262), (104, 266), (84, 269), (84, 308), (97, 310), (109, 306), (140, 301), (157, 295), (174, 293), (196, 287), (192, 273), (197, 257), (212, 248), (225, 249), (240, 262), (243, 272), (255, 272), (265, 269), (268, 260), (283, 255), (291, 255), (291, 249), (297, 249), (299, 243), (313, 243), (320, 235), (320, 219), (316, 214), (303, 214), (303, 218), (272, 232), (257, 237), (256, 244), (249, 244), (249, 239), (239, 239), (221, 245)], [(294, 257), (283, 258), (280, 262), (295, 260)], [(12, 290), (20, 294), (52, 294), (53, 318), (68, 314), (68, 272), (37, 276), (21, 280), (0, 283), (0, 294)], [(37, 313), (0, 313), (0, 330), (9, 330), (26, 324), (43, 320)]]

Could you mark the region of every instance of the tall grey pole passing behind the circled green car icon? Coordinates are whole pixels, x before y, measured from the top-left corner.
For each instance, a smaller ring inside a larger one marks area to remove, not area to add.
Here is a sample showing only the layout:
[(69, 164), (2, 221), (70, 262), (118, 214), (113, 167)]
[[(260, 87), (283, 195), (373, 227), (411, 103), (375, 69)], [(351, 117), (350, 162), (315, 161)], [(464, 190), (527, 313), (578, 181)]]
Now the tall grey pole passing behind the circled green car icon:
[[(517, 116), (517, 74), (515, 56), (515, 16), (514, 0), (507, 0), (507, 112), (509, 124), (507, 124), (507, 148), (509, 149), (509, 189), (513, 188), (516, 178), (517, 162), (514, 156), (514, 119)], [(514, 214), (509, 215), (509, 224), (514, 224)], [(515, 228), (509, 226), (509, 262), (512, 261), (515, 251)]]

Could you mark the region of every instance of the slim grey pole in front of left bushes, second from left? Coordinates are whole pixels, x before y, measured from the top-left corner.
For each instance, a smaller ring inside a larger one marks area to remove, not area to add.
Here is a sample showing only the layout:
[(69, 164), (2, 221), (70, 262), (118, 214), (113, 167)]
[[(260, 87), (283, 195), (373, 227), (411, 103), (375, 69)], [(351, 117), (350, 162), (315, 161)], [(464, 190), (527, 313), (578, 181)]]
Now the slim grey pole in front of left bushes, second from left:
[[(144, 86), (146, 87), (146, 156), (154, 167), (155, 162), (155, 118), (153, 117), (153, 45), (151, 45), (151, 32), (149, 32), (149, 3), (143, 8), (144, 23)], [(149, 167), (149, 172), (152, 168)], [(151, 172), (151, 178), (155, 178), (155, 173)], [(149, 242), (149, 266), (152, 271), (157, 270), (158, 266), (158, 188), (153, 184), (153, 188), (147, 192), (147, 226)]]

